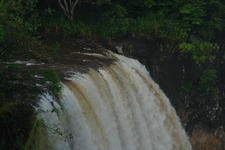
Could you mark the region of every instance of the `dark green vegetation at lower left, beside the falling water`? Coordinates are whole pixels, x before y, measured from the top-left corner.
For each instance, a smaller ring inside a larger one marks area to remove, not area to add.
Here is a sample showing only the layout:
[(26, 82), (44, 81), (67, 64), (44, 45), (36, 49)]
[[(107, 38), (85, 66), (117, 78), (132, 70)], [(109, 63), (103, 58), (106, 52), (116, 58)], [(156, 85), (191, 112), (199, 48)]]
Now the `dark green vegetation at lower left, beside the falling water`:
[(0, 79), (0, 147), (22, 149), (35, 119), (33, 106), (41, 89), (35, 86), (32, 74), (18, 64), (1, 68)]

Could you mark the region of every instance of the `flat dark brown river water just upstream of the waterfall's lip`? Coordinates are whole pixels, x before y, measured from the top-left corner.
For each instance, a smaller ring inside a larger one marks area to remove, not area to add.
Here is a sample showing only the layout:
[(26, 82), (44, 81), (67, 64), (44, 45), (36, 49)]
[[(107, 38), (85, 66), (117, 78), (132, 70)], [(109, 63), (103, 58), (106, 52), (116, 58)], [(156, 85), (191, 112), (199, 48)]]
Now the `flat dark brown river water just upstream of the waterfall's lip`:
[[(48, 43), (55, 43), (55, 41), (48, 41)], [(101, 47), (97, 48), (97, 46), (79, 46), (72, 41), (62, 41), (57, 51), (57, 57), (53, 58), (53, 62), (43, 63), (32, 59), (26, 61), (14, 60), (13, 62), (22, 65), (25, 70), (38, 72), (47, 68), (53, 68), (63, 80), (64, 77), (68, 77), (74, 72), (85, 73), (89, 68), (97, 69), (111, 64), (114, 59), (107, 56), (107, 51)]]

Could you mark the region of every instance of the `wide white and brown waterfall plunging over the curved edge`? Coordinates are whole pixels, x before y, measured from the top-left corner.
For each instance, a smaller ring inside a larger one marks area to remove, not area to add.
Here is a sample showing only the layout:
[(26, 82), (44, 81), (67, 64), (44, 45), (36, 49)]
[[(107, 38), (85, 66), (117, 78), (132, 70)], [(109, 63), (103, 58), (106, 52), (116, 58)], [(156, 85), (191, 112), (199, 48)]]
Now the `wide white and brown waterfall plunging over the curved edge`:
[(110, 65), (74, 72), (59, 100), (42, 95), (45, 149), (190, 150), (169, 99), (137, 60), (107, 52)]

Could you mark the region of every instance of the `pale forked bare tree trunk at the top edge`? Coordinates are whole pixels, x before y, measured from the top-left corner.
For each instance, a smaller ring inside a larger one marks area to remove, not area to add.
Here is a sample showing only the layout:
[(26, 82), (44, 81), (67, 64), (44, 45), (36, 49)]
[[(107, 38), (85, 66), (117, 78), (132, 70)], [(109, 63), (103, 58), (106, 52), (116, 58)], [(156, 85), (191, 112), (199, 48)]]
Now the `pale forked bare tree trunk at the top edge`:
[(63, 2), (62, 0), (58, 0), (60, 7), (69, 20), (73, 20), (74, 9), (77, 6), (78, 2), (79, 0), (69, 0), (69, 2), (67, 2), (67, 0), (63, 0)]

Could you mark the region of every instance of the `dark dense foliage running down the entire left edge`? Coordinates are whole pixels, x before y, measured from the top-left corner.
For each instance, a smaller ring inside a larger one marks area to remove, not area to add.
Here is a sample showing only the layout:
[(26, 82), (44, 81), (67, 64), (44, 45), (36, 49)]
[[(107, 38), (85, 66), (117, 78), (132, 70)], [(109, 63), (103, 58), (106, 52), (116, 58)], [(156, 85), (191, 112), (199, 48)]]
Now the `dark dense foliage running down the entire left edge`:
[[(51, 61), (56, 48), (39, 41), (41, 24), (36, 0), (0, 1), (0, 149), (25, 149), (30, 131), (35, 130), (38, 95), (48, 90), (57, 94), (59, 79), (54, 71), (44, 71), (44, 80), (13, 61)], [(11, 63), (10, 63), (11, 62)], [(46, 75), (46, 72), (49, 75)], [(38, 85), (43, 85), (42, 88)]]

